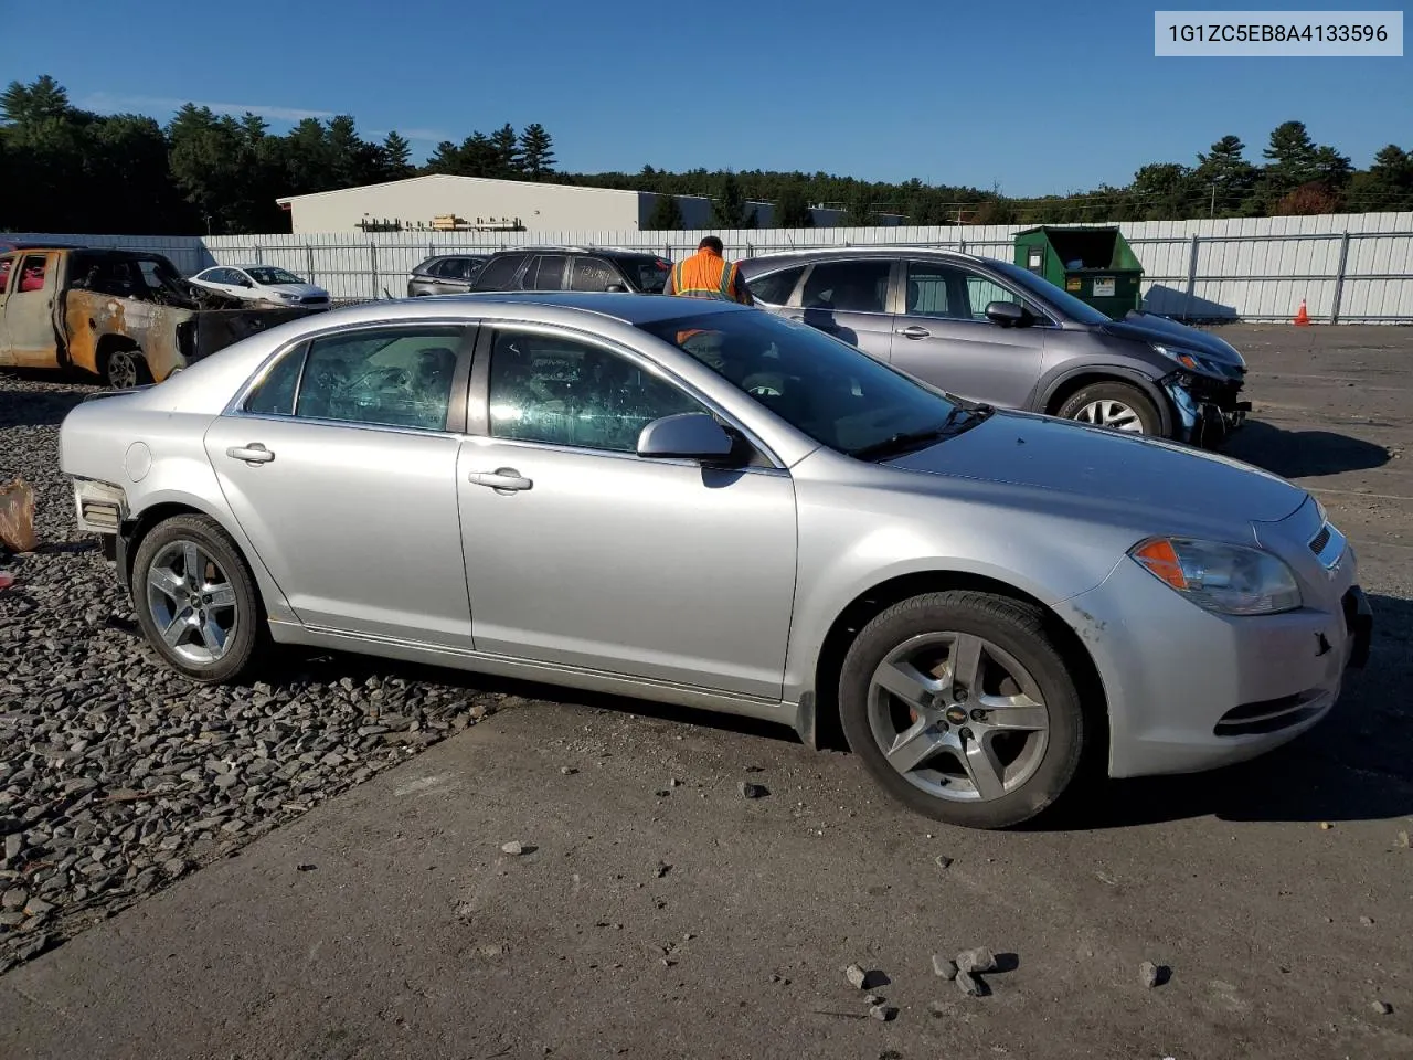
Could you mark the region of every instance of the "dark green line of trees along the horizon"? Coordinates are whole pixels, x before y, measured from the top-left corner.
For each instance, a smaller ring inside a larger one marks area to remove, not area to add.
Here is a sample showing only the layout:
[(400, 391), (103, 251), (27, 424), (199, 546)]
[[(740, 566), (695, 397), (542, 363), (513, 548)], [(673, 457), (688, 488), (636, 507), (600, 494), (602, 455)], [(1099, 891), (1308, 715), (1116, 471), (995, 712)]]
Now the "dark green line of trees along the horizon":
[(658, 195), (649, 228), (682, 226), (680, 196), (712, 199), (712, 228), (756, 228), (752, 202), (773, 204), (779, 228), (807, 228), (812, 205), (845, 223), (899, 213), (913, 225), (1184, 220), (1413, 209), (1413, 154), (1389, 144), (1368, 170), (1317, 144), (1301, 122), (1270, 133), (1259, 161), (1224, 136), (1193, 163), (1152, 163), (1123, 187), (1012, 198), (999, 188), (859, 181), (827, 172), (575, 174), (557, 170), (554, 139), (536, 123), (475, 131), (437, 144), (414, 165), (398, 133), (359, 134), (353, 117), (305, 119), (270, 131), (256, 114), (233, 117), (188, 103), (165, 124), (144, 114), (97, 114), (69, 102), (49, 76), (0, 93), (0, 230), (114, 235), (287, 232), (276, 205), (302, 195), (425, 172), (551, 181)]

